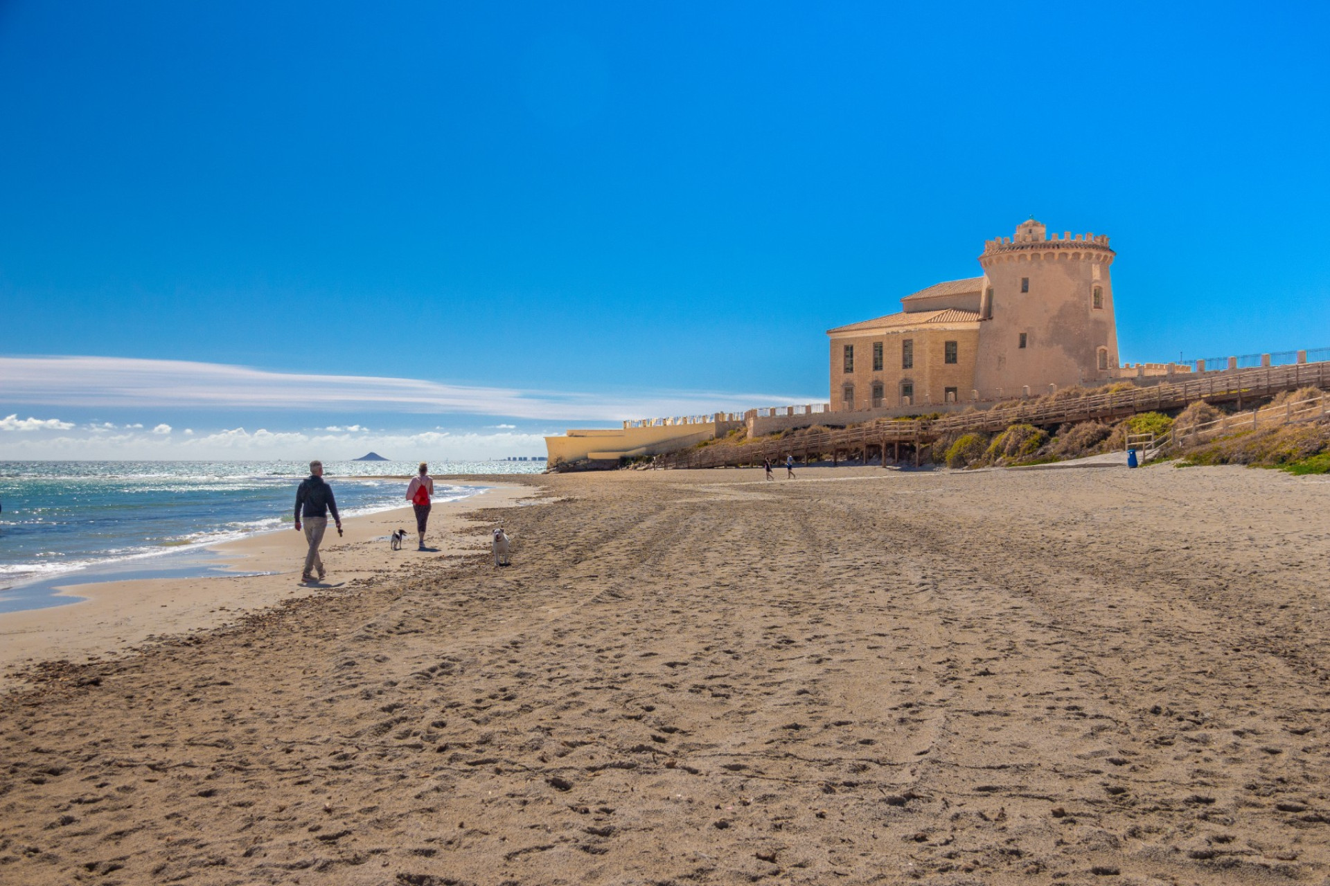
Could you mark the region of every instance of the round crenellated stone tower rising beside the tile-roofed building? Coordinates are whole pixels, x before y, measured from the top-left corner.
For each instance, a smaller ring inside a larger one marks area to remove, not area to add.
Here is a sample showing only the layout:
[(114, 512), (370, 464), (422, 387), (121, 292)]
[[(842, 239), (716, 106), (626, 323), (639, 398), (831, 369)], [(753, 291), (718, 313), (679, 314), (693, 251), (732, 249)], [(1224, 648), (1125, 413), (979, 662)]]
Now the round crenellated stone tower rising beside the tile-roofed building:
[(1108, 379), (1117, 368), (1115, 255), (1107, 236), (1048, 236), (1033, 218), (984, 243), (975, 387), (1037, 395)]

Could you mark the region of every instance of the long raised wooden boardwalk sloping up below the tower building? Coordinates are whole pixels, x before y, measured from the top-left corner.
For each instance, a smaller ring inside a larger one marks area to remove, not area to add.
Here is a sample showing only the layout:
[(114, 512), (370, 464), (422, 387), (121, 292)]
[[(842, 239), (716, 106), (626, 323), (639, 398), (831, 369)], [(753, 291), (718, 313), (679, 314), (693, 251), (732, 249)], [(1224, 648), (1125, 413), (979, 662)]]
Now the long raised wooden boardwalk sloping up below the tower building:
[[(1212, 404), (1261, 400), (1282, 391), (1303, 387), (1330, 388), (1330, 363), (1301, 363), (1283, 367), (1229, 369), (1196, 379), (1160, 383), (1152, 388), (1132, 388), (1112, 393), (1092, 393), (1061, 400), (1015, 400), (990, 409), (950, 414), (940, 418), (890, 420), (879, 418), (849, 428), (818, 432), (795, 432), (789, 437), (759, 437), (743, 444), (716, 442), (701, 448), (660, 456), (661, 468), (726, 468), (761, 465), (794, 456), (807, 461), (810, 456), (830, 456), (867, 461), (876, 452), (883, 462), (887, 453), (900, 461), (902, 453), (919, 464), (924, 444), (948, 433), (996, 432), (1015, 424), (1056, 428), (1073, 421), (1125, 418), (1138, 412), (1182, 409), (1197, 401)], [(837, 413), (829, 413), (827, 418)], [(846, 417), (851, 417), (849, 413)]]

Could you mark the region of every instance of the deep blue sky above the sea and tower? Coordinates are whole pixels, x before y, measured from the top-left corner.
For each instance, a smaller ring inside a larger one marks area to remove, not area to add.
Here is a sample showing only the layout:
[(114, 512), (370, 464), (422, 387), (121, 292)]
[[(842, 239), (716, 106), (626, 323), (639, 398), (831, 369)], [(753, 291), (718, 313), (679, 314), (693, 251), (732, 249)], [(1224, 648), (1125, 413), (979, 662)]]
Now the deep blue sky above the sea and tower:
[(1330, 345), (1327, 7), (894, 5), (0, 0), (0, 357), (469, 392), (192, 401), (161, 364), (173, 396), (116, 400), (0, 363), (0, 417), (527, 454), (819, 401), (825, 329), (1031, 214), (1112, 236), (1124, 361)]

